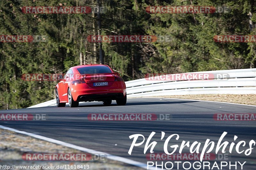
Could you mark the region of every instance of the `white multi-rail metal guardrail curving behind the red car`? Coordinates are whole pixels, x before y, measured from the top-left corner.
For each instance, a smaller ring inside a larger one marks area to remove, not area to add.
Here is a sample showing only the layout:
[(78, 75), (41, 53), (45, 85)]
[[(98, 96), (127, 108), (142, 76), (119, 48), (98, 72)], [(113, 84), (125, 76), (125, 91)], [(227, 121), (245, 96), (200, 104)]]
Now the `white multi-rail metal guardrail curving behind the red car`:
[[(238, 70), (216, 70), (189, 72), (191, 74), (228, 74), (228, 79), (211, 80), (148, 80), (141, 78), (127, 81), (126, 93), (128, 98), (186, 95), (186, 94), (256, 94), (256, 68)], [(182, 73), (182, 74), (189, 74)], [(155, 78), (153, 78), (155, 79)], [(33, 107), (54, 106), (55, 100), (49, 100)]]

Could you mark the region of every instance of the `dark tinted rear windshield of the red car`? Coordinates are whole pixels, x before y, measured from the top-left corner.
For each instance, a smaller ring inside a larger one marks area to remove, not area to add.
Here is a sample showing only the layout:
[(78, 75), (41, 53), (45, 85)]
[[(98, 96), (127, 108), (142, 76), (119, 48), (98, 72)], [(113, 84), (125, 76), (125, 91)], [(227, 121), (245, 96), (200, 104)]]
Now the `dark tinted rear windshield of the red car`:
[(97, 73), (112, 73), (107, 66), (87, 66), (77, 69), (81, 75), (83, 74), (97, 74)]

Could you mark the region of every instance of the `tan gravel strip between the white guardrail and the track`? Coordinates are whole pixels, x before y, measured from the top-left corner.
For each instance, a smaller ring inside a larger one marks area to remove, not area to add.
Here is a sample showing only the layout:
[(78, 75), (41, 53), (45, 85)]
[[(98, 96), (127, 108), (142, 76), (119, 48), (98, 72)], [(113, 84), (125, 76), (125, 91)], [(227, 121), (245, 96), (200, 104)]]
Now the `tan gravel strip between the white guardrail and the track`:
[(163, 98), (193, 99), (207, 101), (222, 101), (245, 105), (256, 105), (256, 94), (193, 94), (193, 95), (173, 95), (173, 96), (152, 96)]

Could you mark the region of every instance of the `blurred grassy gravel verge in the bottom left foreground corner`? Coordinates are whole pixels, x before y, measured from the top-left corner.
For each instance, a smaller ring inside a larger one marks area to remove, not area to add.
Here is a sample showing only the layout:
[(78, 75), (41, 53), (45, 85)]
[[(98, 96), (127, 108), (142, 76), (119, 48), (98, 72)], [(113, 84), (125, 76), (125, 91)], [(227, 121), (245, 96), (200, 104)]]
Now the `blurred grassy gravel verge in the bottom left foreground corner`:
[[(22, 155), (26, 153), (84, 153), (84, 152), (75, 150), (72, 148), (68, 148), (66, 146), (47, 142), (44, 140), (36, 139), (23, 134), (15, 133), (9, 130), (0, 129), (0, 169), (6, 169), (4, 168), (4, 166), (12, 167), (12, 165), (55, 166), (55, 168), (52, 168), (52, 169), (61, 169), (61, 168), (57, 168), (57, 166), (66, 165), (66, 168), (69, 167), (69, 169), (80, 169), (80, 168), (77, 168), (77, 165), (82, 167), (87, 167), (87, 165), (89, 165), (90, 170), (137, 170), (137, 169), (142, 170), (142, 168), (125, 164), (122, 162), (118, 162), (118, 161), (113, 161), (110, 159), (89, 160), (89, 161), (24, 160), (22, 159)], [(95, 158), (94, 155), (92, 155), (92, 158)], [(20, 167), (20, 168), (14, 168), (14, 169), (25, 169), (25, 168)], [(30, 169), (30, 168), (27, 167), (26, 169)], [(37, 170), (37, 169), (39, 170), (39, 168), (34, 168), (34, 170)], [(47, 169), (47, 168), (41, 167), (41, 169)]]

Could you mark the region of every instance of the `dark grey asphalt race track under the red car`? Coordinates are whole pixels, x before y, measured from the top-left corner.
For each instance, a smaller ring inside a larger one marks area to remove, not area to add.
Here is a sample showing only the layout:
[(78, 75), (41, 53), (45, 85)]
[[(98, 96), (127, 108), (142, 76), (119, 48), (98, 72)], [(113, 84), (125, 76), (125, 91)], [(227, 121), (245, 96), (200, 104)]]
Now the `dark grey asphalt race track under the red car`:
[[(86, 102), (80, 104), (78, 108), (52, 106), (1, 110), (0, 113), (46, 114), (46, 120), (0, 121), (0, 125), (142, 163), (147, 163), (146, 155), (143, 153), (146, 140), (139, 147), (134, 147), (132, 154), (129, 155), (128, 151), (132, 144), (130, 135), (142, 134), (147, 139), (152, 131), (156, 132), (151, 139), (157, 142), (154, 148), (155, 153), (164, 153), (164, 140), (172, 134), (178, 134), (180, 138), (177, 141), (172, 138), (169, 144), (179, 146), (182, 140), (204, 143), (209, 138), (217, 142), (224, 131), (228, 132), (224, 138), (226, 141), (233, 142), (234, 135), (236, 135), (237, 141), (246, 141), (247, 147), (250, 140), (256, 140), (255, 121), (216, 121), (213, 119), (216, 113), (256, 113), (256, 107), (227, 103), (137, 98), (127, 99), (125, 106), (117, 106), (115, 101), (111, 106), (103, 106), (102, 102)], [(170, 120), (91, 121), (87, 119), (88, 114), (95, 113), (151, 113), (158, 116), (170, 114)], [(165, 132), (163, 140), (161, 140), (162, 131)], [(141, 138), (139, 139), (141, 141)], [(184, 148), (183, 152), (189, 153), (189, 149)], [(249, 156), (233, 153), (229, 155), (228, 161), (246, 161), (244, 169), (256, 169), (255, 149)]]

